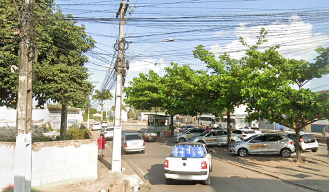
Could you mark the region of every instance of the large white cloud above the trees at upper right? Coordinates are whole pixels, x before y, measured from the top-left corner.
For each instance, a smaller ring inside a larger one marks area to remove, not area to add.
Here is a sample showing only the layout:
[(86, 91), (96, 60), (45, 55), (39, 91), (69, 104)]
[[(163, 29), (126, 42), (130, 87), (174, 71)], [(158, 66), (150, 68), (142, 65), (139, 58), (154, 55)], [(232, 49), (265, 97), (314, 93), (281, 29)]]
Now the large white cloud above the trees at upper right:
[[(325, 46), (329, 42), (329, 36), (322, 33), (312, 34), (313, 26), (305, 23), (301, 17), (292, 15), (288, 22), (272, 22), (269, 25), (247, 27), (247, 24), (241, 23), (235, 29), (236, 40), (225, 46), (216, 44), (211, 46), (211, 51), (216, 55), (224, 52), (230, 54), (231, 57), (240, 59), (244, 56), (245, 46), (239, 42), (239, 37), (243, 37), (249, 45), (257, 42), (257, 36), (261, 28), (264, 27), (268, 34), (266, 35), (267, 43), (261, 48), (268, 48), (273, 45), (280, 45), (279, 52), (286, 58), (304, 59), (310, 61), (315, 56), (315, 49), (318, 46)], [(215, 35), (219, 35), (215, 33)]]

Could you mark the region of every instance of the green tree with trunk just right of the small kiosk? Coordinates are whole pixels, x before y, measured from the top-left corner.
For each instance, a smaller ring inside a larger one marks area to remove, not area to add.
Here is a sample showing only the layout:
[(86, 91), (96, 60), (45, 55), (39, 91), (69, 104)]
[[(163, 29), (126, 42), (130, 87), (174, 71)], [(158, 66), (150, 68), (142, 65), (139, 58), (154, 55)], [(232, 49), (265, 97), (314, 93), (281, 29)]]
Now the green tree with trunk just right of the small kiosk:
[(166, 74), (160, 85), (163, 110), (169, 114), (171, 136), (174, 135), (174, 115), (197, 115), (204, 108), (204, 90), (206, 90), (206, 73), (194, 71), (187, 65), (178, 66), (171, 63), (166, 67)]

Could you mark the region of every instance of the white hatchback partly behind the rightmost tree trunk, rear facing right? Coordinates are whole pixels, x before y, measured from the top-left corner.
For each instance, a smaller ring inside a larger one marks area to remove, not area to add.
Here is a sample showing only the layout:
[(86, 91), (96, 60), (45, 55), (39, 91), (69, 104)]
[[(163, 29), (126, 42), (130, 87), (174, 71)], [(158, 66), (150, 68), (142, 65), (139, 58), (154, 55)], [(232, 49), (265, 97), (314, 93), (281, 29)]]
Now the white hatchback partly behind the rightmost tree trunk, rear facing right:
[[(316, 141), (316, 137), (312, 133), (300, 132), (299, 133), (299, 146), (302, 151), (311, 150), (316, 152), (319, 149), (319, 144)], [(293, 144), (296, 146), (296, 133), (289, 132), (286, 135), (293, 141)]]

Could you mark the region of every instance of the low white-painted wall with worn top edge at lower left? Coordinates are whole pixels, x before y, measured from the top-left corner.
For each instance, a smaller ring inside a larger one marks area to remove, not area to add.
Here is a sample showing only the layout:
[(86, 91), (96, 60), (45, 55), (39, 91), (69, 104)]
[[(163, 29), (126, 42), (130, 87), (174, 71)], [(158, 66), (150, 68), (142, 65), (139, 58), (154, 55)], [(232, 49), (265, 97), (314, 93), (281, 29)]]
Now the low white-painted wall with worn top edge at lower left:
[[(14, 152), (15, 143), (0, 143), (0, 190), (13, 184)], [(95, 179), (97, 145), (94, 140), (49, 141), (32, 145), (32, 186)]]

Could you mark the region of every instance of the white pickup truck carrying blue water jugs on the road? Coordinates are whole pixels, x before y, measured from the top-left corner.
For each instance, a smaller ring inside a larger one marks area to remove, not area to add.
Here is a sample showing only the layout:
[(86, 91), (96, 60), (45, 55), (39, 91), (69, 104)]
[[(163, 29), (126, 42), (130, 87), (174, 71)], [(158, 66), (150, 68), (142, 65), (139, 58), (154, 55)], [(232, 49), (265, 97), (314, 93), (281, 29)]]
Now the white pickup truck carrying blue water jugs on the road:
[[(212, 171), (212, 156), (205, 144), (197, 142), (180, 143), (181, 146), (199, 146), (203, 149), (199, 155), (174, 154), (169, 155), (164, 161), (164, 177), (166, 184), (171, 184), (172, 180), (204, 181), (205, 185), (210, 185), (210, 171)], [(187, 150), (187, 149), (186, 149)], [(196, 152), (196, 151), (195, 151)], [(199, 150), (200, 152), (200, 150)], [(180, 152), (179, 152), (180, 153)], [(194, 151), (193, 151), (194, 153)]]

